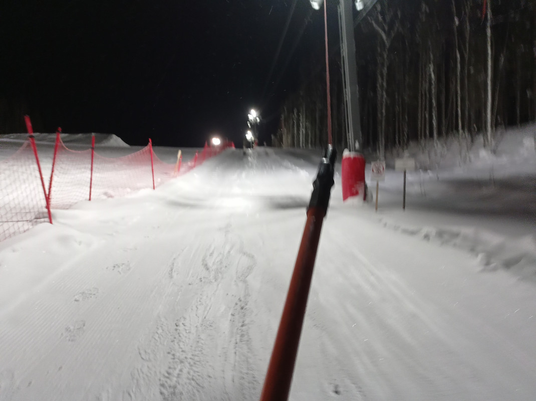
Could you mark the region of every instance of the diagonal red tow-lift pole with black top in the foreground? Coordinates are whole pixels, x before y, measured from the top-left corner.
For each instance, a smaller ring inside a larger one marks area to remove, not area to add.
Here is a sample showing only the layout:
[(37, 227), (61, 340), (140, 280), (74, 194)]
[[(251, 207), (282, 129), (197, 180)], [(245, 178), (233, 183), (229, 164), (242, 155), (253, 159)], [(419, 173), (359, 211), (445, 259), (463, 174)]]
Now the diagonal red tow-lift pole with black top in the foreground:
[(300, 249), (296, 257), (260, 401), (288, 399), (322, 222), (330, 202), (336, 157), (336, 150), (328, 145), (318, 168), (316, 180), (312, 184), (307, 222), (303, 229)]

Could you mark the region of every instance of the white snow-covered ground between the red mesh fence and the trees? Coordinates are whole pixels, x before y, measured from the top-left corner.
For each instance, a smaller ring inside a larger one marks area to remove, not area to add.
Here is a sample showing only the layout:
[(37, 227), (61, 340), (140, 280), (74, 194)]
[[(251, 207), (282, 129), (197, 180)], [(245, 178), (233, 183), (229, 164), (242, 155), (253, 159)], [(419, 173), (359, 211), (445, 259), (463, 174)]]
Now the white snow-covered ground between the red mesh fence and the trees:
[[(405, 212), (401, 173), (377, 213), (337, 175), (292, 400), (536, 398), (533, 129), (408, 174)], [(258, 399), (317, 162), (227, 150), (0, 242), (0, 400)]]

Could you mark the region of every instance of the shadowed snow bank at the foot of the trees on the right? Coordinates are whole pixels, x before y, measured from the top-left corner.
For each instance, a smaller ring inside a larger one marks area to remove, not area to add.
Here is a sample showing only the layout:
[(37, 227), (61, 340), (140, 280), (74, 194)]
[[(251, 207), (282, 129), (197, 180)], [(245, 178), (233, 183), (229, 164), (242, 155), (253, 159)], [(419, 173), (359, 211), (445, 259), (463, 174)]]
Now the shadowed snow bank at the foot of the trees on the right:
[[(408, 147), (418, 169), (407, 173), (406, 211), (401, 209), (403, 173), (393, 171), (393, 152), (379, 184), (377, 221), (385, 228), (465, 250), (483, 271), (505, 270), (536, 282), (535, 124), (496, 132), (495, 152), (482, 136), (468, 148), (457, 138), (425, 148)], [(367, 169), (367, 179), (370, 175)], [(369, 181), (369, 185), (375, 186)]]

